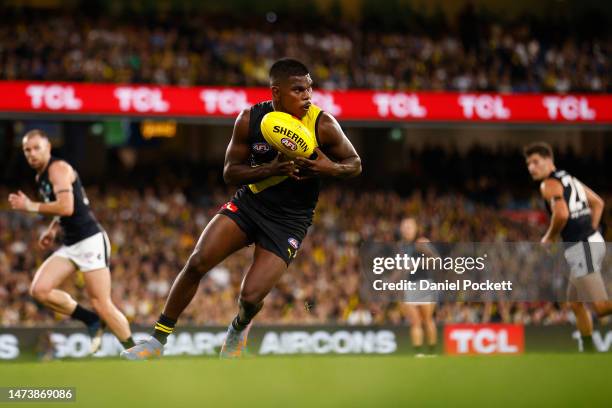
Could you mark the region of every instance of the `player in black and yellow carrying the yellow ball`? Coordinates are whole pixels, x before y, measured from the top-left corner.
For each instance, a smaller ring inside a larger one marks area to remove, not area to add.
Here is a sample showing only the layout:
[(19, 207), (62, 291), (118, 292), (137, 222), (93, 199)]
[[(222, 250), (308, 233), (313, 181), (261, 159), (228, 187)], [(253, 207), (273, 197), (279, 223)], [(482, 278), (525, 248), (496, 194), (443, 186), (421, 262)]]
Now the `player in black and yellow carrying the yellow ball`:
[[(254, 244), (253, 263), (240, 288), (238, 313), (221, 348), (222, 357), (239, 357), (251, 320), (306, 236), (319, 196), (319, 178), (348, 178), (361, 172), (361, 160), (338, 122), (311, 102), (308, 69), (299, 61), (282, 59), (272, 65), (269, 74), (272, 100), (238, 115), (225, 155), (224, 179), (241, 187), (202, 232), (172, 285), (152, 337), (124, 351), (123, 358), (161, 355), (202, 277), (232, 253)], [(316, 136), (320, 148), (313, 157), (286, 160), (266, 143), (260, 124), (272, 111), (299, 118)]]

